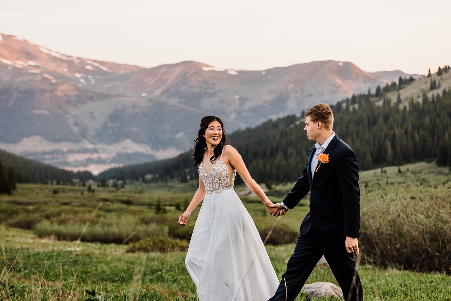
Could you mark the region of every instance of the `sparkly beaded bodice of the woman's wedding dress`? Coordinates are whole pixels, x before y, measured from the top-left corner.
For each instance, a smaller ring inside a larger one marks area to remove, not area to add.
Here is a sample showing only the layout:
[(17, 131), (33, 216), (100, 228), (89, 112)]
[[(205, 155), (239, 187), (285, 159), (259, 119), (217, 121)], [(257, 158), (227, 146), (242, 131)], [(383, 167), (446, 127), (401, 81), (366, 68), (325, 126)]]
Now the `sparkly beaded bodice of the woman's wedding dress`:
[[(224, 146), (226, 148), (226, 145)], [(224, 148), (222, 148), (222, 153), (224, 153)], [(230, 183), (229, 170), (224, 161), (222, 161), (221, 156), (213, 163), (212, 169), (210, 169), (210, 175), (208, 175), (202, 162), (199, 164), (199, 176), (205, 185), (205, 193), (217, 193), (226, 189), (233, 189), (235, 182), (236, 169), (233, 169), (232, 181)]]

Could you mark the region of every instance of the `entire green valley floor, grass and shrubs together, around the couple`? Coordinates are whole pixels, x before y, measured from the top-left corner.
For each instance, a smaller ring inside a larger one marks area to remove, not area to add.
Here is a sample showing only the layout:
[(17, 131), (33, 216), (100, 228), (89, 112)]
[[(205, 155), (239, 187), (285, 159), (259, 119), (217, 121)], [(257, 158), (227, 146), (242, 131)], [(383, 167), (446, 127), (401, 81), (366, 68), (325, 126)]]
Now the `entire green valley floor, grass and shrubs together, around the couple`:
[[(267, 194), (280, 202), (293, 184)], [(451, 300), (451, 172), (427, 162), (387, 167), (361, 172), (360, 186), (364, 298)], [(93, 189), (19, 184), (0, 196), (0, 300), (85, 300), (93, 288), (101, 300), (197, 300), (184, 256), (200, 206), (177, 224), (196, 182)], [(276, 218), (245, 186), (235, 190), (263, 238), (274, 227), (266, 247), (280, 278), (308, 196)], [(320, 281), (336, 283), (327, 265), (308, 279)]]

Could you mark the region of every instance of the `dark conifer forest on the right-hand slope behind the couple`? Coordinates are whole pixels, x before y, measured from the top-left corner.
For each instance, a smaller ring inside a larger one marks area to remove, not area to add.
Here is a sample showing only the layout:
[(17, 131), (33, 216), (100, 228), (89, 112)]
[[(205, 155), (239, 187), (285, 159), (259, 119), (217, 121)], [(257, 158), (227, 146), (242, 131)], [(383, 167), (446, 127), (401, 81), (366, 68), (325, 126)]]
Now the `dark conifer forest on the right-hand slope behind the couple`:
[[(445, 66), (444, 70), (449, 67)], [(412, 97), (407, 104), (401, 102), (399, 93), (396, 101), (385, 97), (386, 93), (413, 81), (400, 78), (398, 83), (376, 88), (375, 93), (353, 95), (331, 106), (333, 129), (353, 148), (360, 170), (424, 160), (436, 160), (439, 166), (451, 167), (451, 89), (443, 89), (441, 93), (437, 90), (432, 97), (423, 92), (421, 102)], [(375, 104), (378, 94), (382, 105)], [(256, 181), (269, 185), (295, 181), (314, 144), (307, 139), (304, 126), (304, 114), (285, 116), (235, 131), (227, 139), (242, 155)], [(99, 176), (139, 180), (150, 174), (151, 181), (174, 178), (186, 181), (186, 178), (198, 178), (192, 153), (190, 150), (171, 159), (114, 168)]]

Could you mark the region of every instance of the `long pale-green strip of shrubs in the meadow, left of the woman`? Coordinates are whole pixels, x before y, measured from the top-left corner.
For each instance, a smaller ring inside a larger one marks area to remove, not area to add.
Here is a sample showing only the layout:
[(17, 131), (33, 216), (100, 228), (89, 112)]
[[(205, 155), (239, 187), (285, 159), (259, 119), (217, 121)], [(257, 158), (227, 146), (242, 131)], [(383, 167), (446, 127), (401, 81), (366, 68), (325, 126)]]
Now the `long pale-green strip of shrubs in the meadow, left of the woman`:
[[(55, 222), (42, 221), (34, 228), (39, 237), (53, 236), (64, 241), (75, 241), (83, 231), (83, 224), (60, 225)], [(113, 221), (101, 219), (96, 225), (89, 225), (81, 241), (123, 243), (139, 241), (153, 236), (167, 236), (168, 227), (160, 224), (136, 225), (129, 218)]]

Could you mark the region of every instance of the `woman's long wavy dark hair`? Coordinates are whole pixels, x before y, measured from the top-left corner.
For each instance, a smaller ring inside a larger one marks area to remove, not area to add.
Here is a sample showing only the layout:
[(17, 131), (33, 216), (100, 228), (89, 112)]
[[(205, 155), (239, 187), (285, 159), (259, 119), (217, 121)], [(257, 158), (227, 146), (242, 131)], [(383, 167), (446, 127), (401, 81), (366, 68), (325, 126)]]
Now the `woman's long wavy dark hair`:
[(213, 150), (213, 156), (210, 158), (210, 162), (213, 162), (217, 157), (221, 155), (222, 148), (224, 145), (227, 144), (226, 140), (226, 131), (224, 130), (224, 123), (222, 122), (221, 118), (218, 116), (205, 116), (200, 120), (199, 125), (199, 131), (198, 131), (198, 137), (194, 139), (194, 153), (193, 153), (193, 161), (194, 166), (199, 166), (199, 164), (203, 160), (203, 154), (205, 153), (205, 150), (207, 149), (207, 141), (205, 141), (205, 131), (208, 128), (208, 125), (213, 122), (217, 121), (221, 124), (222, 129), (222, 138), (218, 145), (216, 145), (215, 149)]

